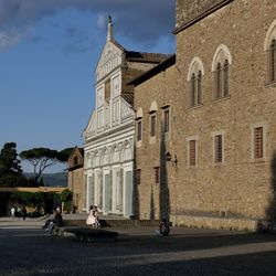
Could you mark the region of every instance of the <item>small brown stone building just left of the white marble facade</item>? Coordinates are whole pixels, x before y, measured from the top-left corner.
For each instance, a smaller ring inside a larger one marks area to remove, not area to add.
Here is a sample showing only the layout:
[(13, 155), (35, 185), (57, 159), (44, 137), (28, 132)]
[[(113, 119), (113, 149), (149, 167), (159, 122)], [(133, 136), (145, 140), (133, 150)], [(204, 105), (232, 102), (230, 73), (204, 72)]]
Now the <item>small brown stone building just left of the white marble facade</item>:
[(84, 149), (75, 147), (68, 157), (68, 189), (73, 193), (73, 206), (83, 211)]

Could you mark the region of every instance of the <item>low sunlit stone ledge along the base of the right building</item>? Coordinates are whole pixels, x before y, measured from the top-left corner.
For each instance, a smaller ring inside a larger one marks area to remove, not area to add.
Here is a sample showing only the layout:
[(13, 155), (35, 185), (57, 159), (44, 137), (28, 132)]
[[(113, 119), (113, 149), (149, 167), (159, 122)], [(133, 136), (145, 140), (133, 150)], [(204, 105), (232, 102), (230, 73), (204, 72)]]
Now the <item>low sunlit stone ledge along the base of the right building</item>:
[(214, 230), (247, 230), (256, 232), (261, 227), (266, 229), (264, 222), (258, 220), (233, 219), (233, 217), (210, 217), (210, 216), (193, 216), (193, 215), (171, 215), (170, 220), (173, 226), (188, 226), (198, 229), (214, 229)]

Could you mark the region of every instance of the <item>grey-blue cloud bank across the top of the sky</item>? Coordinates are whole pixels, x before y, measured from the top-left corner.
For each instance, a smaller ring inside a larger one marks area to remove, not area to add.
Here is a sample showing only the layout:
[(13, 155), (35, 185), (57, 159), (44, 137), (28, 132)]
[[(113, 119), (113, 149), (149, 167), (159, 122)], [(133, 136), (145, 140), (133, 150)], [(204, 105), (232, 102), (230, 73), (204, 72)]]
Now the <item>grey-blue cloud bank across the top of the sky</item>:
[(152, 43), (173, 29), (172, 0), (0, 0), (1, 49), (24, 38), (23, 28), (68, 8), (95, 14), (100, 29), (110, 14), (116, 33), (138, 43)]

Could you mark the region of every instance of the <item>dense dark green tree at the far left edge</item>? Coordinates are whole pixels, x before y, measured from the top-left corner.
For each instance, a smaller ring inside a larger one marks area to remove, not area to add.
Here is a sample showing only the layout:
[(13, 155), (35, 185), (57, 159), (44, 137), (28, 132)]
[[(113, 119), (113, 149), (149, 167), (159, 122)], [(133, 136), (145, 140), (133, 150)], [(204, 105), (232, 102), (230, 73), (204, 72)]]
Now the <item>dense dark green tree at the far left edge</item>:
[(6, 142), (0, 152), (0, 185), (25, 185), (26, 180), (22, 172), (20, 160), (18, 159), (17, 144)]

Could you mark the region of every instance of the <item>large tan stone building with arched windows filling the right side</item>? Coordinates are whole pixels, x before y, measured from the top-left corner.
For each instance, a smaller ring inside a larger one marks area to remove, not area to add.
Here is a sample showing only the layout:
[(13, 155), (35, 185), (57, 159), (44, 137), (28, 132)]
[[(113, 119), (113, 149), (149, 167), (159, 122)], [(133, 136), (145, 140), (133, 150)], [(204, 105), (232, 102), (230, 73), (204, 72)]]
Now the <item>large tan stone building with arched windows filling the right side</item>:
[(140, 219), (275, 220), (276, 2), (178, 0), (176, 63), (136, 78)]

